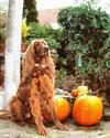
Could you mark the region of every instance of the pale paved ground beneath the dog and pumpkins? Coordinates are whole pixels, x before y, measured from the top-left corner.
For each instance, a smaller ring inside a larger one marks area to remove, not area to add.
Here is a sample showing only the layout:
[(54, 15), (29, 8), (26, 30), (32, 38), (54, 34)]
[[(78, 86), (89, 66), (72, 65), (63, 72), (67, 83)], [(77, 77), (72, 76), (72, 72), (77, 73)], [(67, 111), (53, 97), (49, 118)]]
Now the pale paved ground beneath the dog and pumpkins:
[(110, 138), (110, 121), (101, 120), (91, 127), (78, 126), (73, 119), (65, 124), (69, 128), (68, 131), (59, 131), (55, 126), (46, 124), (48, 135), (44, 137), (37, 135), (34, 125), (21, 127), (10, 120), (0, 120), (0, 138)]

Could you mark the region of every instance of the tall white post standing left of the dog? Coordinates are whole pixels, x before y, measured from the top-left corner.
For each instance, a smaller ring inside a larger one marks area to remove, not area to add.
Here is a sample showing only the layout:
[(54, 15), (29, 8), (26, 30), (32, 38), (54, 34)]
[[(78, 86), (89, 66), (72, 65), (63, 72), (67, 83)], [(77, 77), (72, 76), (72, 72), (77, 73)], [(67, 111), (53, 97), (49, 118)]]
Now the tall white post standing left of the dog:
[(10, 0), (4, 61), (6, 107), (10, 98), (15, 95), (20, 82), (22, 12), (23, 0)]

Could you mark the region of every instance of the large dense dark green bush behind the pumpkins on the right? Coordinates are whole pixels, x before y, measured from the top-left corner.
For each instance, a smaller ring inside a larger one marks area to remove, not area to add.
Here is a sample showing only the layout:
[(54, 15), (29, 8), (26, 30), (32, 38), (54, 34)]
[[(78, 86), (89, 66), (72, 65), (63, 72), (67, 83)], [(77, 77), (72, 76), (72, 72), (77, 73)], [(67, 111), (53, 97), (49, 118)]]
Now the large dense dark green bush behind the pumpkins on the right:
[(106, 31), (110, 17), (105, 11), (87, 4), (69, 7), (58, 13), (58, 22), (63, 26), (59, 67), (96, 77), (110, 68), (110, 33)]

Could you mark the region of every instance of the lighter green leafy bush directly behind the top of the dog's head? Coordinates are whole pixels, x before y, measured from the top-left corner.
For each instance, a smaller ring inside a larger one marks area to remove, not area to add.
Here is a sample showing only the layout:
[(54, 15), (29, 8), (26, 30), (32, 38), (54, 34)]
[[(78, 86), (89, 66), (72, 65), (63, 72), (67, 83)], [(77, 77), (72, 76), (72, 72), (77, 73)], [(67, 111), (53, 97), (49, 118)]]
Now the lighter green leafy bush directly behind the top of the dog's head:
[(62, 30), (53, 30), (50, 25), (41, 25), (38, 23), (30, 23), (29, 25), (31, 29), (29, 31), (29, 36), (26, 38), (26, 43), (29, 44), (33, 39), (41, 39), (43, 38), (50, 49), (56, 50), (59, 47), (59, 40), (62, 36)]

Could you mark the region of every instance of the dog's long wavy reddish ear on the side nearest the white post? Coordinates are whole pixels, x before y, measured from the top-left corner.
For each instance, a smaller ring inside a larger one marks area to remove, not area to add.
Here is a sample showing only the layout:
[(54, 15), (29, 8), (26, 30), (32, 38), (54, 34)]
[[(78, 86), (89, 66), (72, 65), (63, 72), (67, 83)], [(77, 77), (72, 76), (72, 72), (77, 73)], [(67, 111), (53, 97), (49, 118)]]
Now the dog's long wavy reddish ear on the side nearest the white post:
[(22, 82), (25, 82), (31, 75), (31, 72), (35, 64), (35, 51), (34, 51), (34, 43), (36, 41), (32, 41), (26, 49), (23, 60), (22, 60)]

